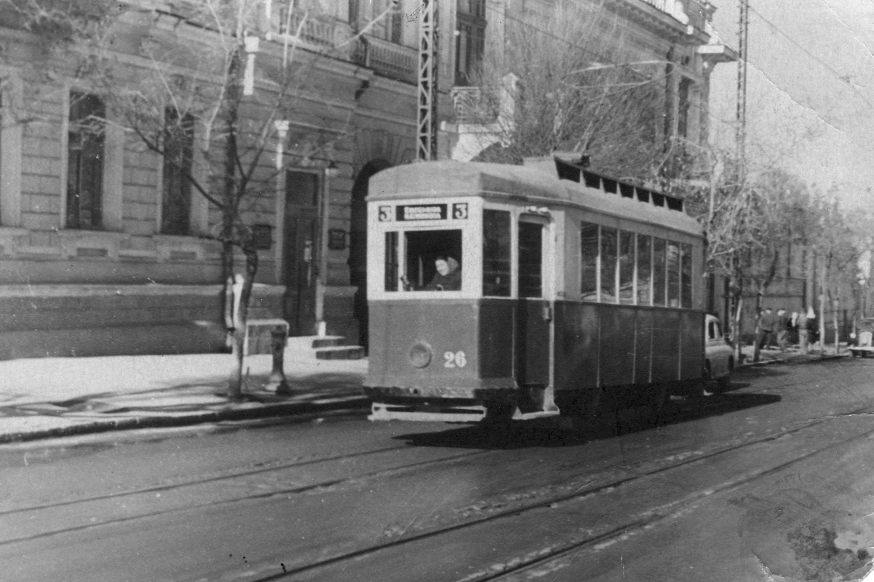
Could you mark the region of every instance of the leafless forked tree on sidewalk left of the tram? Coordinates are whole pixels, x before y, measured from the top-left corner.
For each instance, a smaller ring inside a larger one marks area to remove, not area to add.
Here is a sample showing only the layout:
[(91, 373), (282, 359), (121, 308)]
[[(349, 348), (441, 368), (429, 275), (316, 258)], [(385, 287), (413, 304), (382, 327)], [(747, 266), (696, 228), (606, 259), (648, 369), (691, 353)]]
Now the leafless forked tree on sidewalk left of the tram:
[[(274, 213), (269, 193), (285, 162), (271, 161), (285, 137), (283, 121), (299, 107), (302, 92), (322, 90), (320, 76), (310, 72), (323, 55), (308, 52), (303, 58), (288, 38), (301, 38), (321, 16), (320, 6), (315, 0), (289, 3), (281, 50), (259, 51), (272, 25), (261, 0), (180, 2), (171, 13), (146, 10), (145, 20), (144, 9), (111, 0), (0, 0), (0, 10), (38, 35), (46, 51), (63, 58), (57, 50), (62, 47), (72, 55), (67, 59), (75, 59), (80, 79), (107, 101), (106, 114), (90, 115), (84, 129), (120, 126), (133, 142), (160, 156), (165, 168), (169, 164), (184, 183), (181, 190), (198, 192), (217, 215), (211, 232), (201, 234), (222, 246), (225, 324), (234, 361), (230, 398), (242, 395), (247, 309), (258, 270), (251, 218)], [(166, 22), (156, 26), (156, 20)], [(125, 43), (118, 42), (119, 31), (126, 33)], [(145, 56), (147, 64), (121, 59), (126, 50)], [(323, 156), (348, 136), (336, 135), (312, 143), (302, 155)], [(244, 258), (242, 274), (235, 274), (235, 249)], [(232, 288), (238, 291), (235, 301)]]

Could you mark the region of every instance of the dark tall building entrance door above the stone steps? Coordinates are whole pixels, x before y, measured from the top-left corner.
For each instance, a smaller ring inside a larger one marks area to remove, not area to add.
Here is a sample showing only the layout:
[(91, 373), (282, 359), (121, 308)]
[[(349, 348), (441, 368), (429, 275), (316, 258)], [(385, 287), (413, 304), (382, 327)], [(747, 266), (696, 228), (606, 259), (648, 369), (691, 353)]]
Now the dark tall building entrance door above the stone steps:
[(319, 175), (289, 170), (285, 177), (285, 235), (282, 277), (283, 317), (292, 336), (316, 333)]

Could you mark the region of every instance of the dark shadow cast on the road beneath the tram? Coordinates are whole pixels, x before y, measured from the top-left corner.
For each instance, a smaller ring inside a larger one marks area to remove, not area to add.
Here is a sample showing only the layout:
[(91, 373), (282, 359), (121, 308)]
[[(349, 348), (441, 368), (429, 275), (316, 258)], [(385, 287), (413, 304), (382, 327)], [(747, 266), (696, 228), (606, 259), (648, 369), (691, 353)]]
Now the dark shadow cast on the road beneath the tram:
[(595, 440), (655, 430), (707, 417), (771, 405), (780, 402), (775, 394), (733, 392), (746, 383), (732, 383), (726, 391), (712, 396), (672, 399), (662, 414), (642, 406), (629, 406), (604, 415), (593, 426), (572, 428), (564, 419), (514, 420), (499, 426), (484, 424), (447, 425), (432, 433), (407, 433), (394, 437), (413, 447), (520, 449), (533, 447), (579, 447)]

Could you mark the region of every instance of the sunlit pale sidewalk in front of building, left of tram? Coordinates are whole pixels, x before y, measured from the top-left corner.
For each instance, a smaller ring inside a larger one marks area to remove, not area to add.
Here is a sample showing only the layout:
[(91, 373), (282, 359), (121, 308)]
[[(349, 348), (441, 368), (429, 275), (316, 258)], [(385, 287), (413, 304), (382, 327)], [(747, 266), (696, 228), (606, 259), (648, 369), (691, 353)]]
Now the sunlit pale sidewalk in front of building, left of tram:
[(218, 420), (364, 409), (367, 360), (286, 350), (292, 394), (267, 391), (273, 357), (249, 356), (245, 398), (229, 402), (229, 354), (0, 361), (0, 443)]

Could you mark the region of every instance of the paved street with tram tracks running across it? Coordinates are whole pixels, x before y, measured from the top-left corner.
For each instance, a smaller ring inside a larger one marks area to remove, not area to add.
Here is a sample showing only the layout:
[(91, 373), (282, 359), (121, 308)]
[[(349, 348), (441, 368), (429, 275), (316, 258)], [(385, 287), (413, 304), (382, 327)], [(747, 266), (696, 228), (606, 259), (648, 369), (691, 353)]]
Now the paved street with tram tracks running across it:
[(872, 375), (748, 368), (645, 430), (630, 410), (595, 433), (359, 416), (11, 443), (0, 579), (862, 579)]

